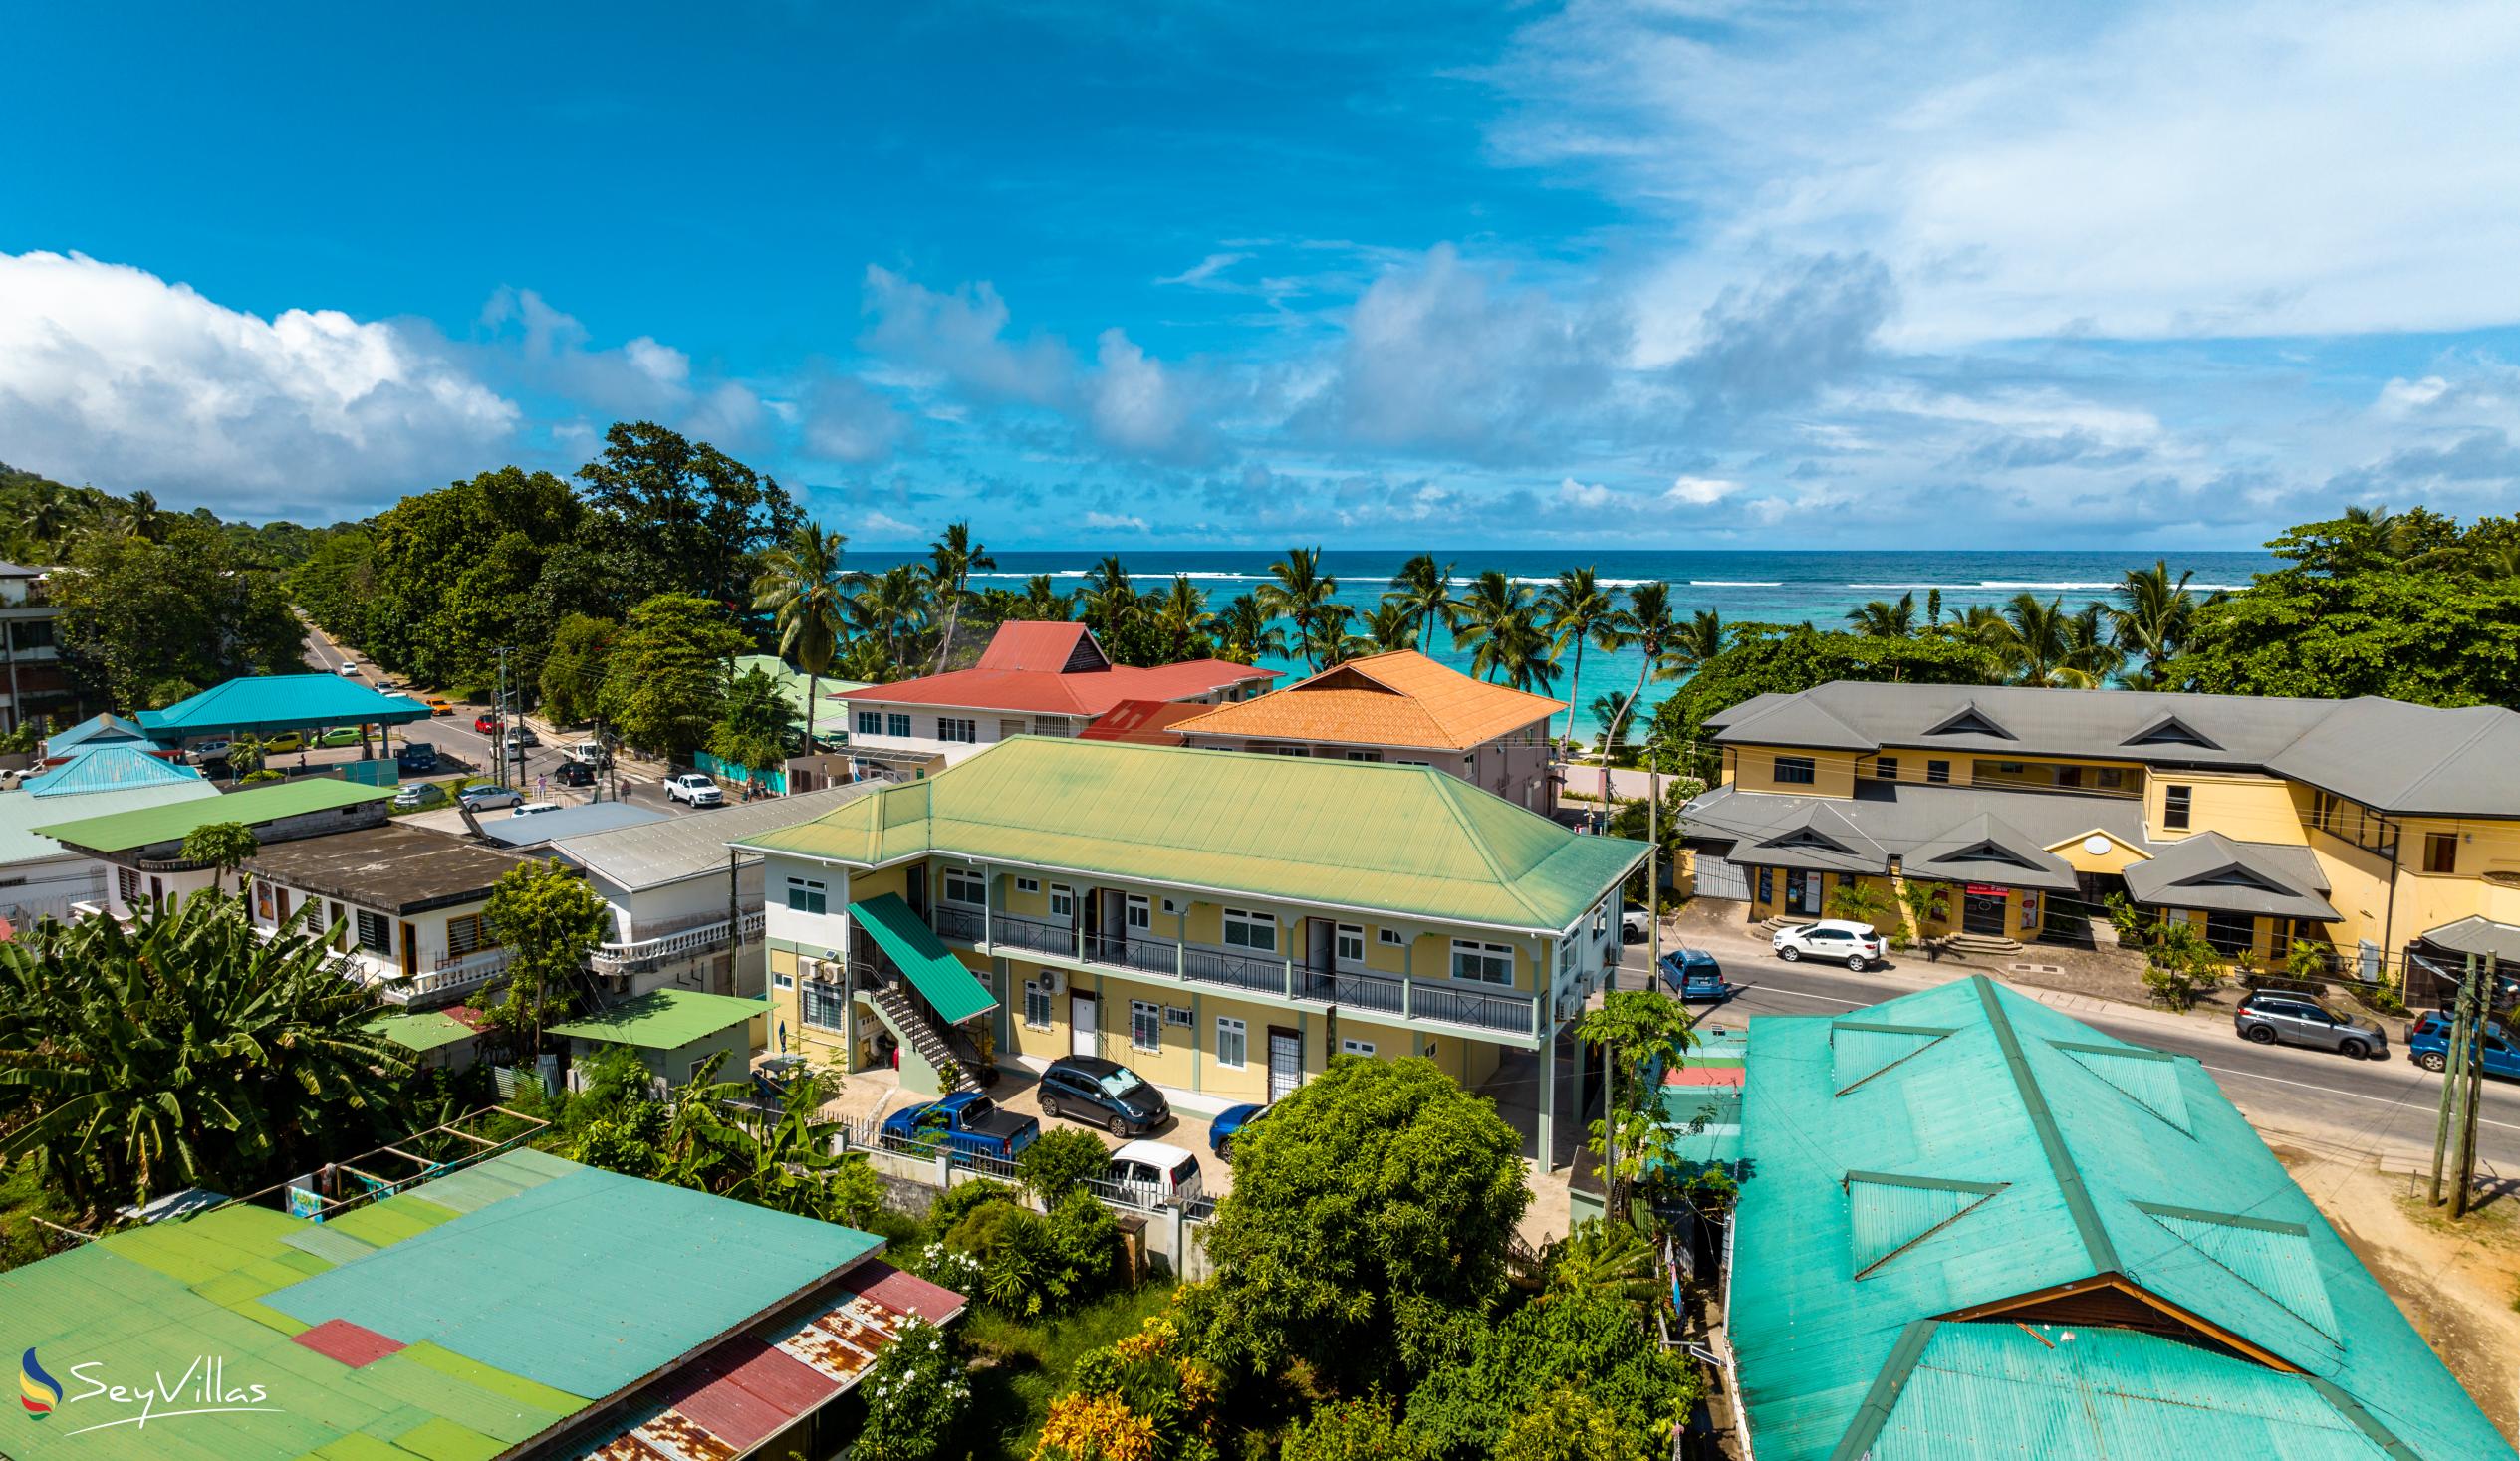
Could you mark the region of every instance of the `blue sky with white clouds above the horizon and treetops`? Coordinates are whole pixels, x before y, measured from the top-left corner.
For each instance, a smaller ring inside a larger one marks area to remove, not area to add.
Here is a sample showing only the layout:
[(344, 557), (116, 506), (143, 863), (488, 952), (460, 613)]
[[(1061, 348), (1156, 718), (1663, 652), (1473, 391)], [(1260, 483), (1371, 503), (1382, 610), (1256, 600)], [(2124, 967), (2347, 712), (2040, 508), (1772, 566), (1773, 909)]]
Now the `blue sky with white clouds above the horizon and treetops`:
[(340, 519), (648, 416), (869, 549), (2520, 506), (2510, 5), (890, 10), (15, 18), (0, 461)]

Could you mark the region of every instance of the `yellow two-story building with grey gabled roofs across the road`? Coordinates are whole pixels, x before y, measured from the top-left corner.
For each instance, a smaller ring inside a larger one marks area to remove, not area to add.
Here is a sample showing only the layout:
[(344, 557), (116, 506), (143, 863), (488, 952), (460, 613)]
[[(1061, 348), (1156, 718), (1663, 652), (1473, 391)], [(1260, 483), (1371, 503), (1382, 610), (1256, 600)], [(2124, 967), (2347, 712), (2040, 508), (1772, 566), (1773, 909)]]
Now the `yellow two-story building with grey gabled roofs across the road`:
[(2369, 977), (2520, 965), (2520, 715), (2492, 705), (1830, 683), (1706, 723), (1696, 892), (1822, 917), (1945, 884), (1925, 932), (2036, 940), (2109, 894), (2225, 955), (2331, 945)]

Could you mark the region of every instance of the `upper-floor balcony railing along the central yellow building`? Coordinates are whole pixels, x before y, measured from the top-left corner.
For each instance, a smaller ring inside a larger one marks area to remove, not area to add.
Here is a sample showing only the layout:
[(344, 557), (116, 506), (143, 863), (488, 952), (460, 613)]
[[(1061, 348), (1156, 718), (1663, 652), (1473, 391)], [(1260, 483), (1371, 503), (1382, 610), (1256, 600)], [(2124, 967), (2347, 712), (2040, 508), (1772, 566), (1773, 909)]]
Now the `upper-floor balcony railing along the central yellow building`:
[[(1026, 950), (1084, 965), (1157, 975), (1189, 985), (1240, 990), (1255, 995), (1280, 995), (1348, 1010), (1371, 1010), (1411, 1020), (1439, 1020), (1497, 1030), (1507, 1035), (1532, 1035), (1540, 1028), (1537, 998), (1462, 990), (1429, 985), (1361, 970), (1308, 970), (1285, 955), (1257, 955), (1250, 950), (1217, 950), (1152, 940), (1139, 935), (1089, 935), (1063, 922), (1031, 919), (1021, 914), (988, 914), (985, 929), (980, 909), (953, 904), (927, 914), (937, 937), (990, 950)], [(985, 945), (983, 945), (985, 937)]]

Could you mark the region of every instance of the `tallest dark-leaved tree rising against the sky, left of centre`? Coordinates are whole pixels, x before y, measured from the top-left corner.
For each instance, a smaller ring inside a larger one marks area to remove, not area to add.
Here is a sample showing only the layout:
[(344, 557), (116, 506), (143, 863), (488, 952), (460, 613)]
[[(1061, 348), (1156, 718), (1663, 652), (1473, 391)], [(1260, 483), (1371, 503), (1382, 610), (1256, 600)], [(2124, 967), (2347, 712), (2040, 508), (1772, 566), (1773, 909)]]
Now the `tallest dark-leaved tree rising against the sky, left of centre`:
[(615, 421), (577, 481), (587, 506), (658, 562), (663, 584), (728, 607), (751, 597), (746, 559), (799, 524), (776, 479), (653, 421)]

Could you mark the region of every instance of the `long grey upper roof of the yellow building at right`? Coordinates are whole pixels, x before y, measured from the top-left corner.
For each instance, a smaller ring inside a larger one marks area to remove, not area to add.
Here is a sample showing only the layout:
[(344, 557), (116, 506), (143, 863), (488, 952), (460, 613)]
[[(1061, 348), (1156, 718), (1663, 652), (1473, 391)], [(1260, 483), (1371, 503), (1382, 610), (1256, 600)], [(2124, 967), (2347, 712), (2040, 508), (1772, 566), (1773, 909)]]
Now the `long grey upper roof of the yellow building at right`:
[[(2008, 736), (1953, 728), (1968, 710)], [(2172, 723), (2205, 743), (2185, 743)], [(1709, 728), (1726, 746), (2273, 771), (2399, 816), (2520, 819), (2520, 713), (2495, 705), (1832, 680), (1799, 695), (1759, 695), (1709, 718)]]

